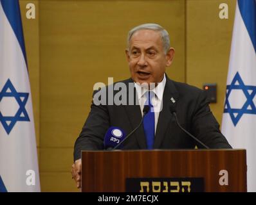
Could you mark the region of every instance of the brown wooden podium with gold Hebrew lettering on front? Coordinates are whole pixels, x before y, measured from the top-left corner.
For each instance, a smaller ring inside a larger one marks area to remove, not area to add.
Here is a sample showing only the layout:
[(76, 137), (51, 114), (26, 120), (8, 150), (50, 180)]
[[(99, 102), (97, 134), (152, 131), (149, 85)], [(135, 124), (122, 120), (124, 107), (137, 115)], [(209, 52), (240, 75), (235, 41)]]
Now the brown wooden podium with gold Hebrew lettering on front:
[(246, 192), (246, 150), (82, 151), (82, 192)]

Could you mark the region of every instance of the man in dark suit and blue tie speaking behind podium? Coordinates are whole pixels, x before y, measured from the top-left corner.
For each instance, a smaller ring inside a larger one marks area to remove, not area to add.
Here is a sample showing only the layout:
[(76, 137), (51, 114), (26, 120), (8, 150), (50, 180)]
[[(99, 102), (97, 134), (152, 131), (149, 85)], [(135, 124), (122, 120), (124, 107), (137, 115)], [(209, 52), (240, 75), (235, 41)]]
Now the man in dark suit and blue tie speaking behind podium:
[[(80, 152), (104, 149), (104, 135), (111, 126), (121, 127), (130, 133), (142, 120), (146, 102), (151, 111), (145, 115), (143, 126), (123, 143), (122, 149), (203, 148), (201, 143), (178, 127), (170, 111), (174, 106), (179, 124), (206, 146), (232, 148), (219, 131), (219, 124), (210, 111), (205, 92), (172, 81), (165, 74), (166, 67), (171, 65), (174, 58), (174, 48), (170, 47), (167, 31), (158, 24), (142, 24), (129, 31), (127, 43), (125, 52), (131, 78), (120, 83), (127, 88), (133, 85), (132, 96), (136, 103), (109, 105), (93, 101), (86, 123), (75, 142), (72, 174), (77, 187), (80, 187)], [(127, 97), (131, 95), (127, 94)]]

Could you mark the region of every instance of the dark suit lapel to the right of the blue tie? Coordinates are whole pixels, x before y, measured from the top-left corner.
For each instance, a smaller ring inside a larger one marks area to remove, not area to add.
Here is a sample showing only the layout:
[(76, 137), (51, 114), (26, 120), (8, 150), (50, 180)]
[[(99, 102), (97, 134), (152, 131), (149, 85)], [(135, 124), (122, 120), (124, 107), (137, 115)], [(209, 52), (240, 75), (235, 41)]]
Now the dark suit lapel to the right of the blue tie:
[[(166, 76), (167, 77), (167, 76)], [(170, 113), (170, 101), (171, 98), (174, 98), (175, 101), (178, 101), (179, 93), (174, 86), (174, 83), (167, 77), (165, 90), (163, 92), (163, 109), (160, 112), (158, 117), (158, 125), (156, 127), (156, 136), (154, 140), (154, 149), (159, 149), (161, 142), (165, 137), (168, 127), (170, 126), (170, 119), (172, 114)]]

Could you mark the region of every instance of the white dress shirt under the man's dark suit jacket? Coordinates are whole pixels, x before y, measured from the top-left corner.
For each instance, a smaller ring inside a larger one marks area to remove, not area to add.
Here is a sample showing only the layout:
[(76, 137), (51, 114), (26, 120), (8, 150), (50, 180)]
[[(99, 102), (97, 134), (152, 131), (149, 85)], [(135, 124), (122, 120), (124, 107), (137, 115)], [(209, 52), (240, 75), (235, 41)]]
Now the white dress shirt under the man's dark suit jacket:
[[(165, 74), (163, 76), (163, 80), (158, 83), (157, 86), (154, 86), (150, 91), (154, 92), (154, 97), (152, 97), (152, 105), (154, 106), (154, 133), (156, 134), (156, 127), (158, 125), (158, 117), (161, 109), (163, 108), (162, 106), (162, 100), (163, 100), (163, 90), (165, 90), (165, 83), (166, 83), (166, 78)], [(149, 91), (147, 86), (142, 86), (139, 83), (134, 83), (134, 86), (136, 88), (136, 92), (138, 95), (138, 102), (140, 103), (140, 110), (143, 115), (143, 108), (144, 104), (147, 100), (147, 97), (145, 96), (145, 93)]]

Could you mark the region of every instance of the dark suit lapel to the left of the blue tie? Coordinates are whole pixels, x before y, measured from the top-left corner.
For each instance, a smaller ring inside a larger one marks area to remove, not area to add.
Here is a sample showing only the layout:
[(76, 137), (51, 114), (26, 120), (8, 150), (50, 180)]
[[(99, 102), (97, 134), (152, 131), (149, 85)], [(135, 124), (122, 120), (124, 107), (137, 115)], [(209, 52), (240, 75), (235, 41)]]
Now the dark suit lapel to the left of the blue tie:
[[(133, 80), (131, 79), (129, 81), (129, 83), (132, 83)], [(128, 87), (128, 85), (127, 85)], [(136, 92), (136, 88), (133, 84), (133, 87), (130, 86), (129, 89), (133, 89), (133, 92), (134, 92), (134, 105), (127, 105), (127, 106), (124, 106), (125, 107), (125, 111), (127, 113), (127, 116), (128, 116), (128, 119), (129, 119), (129, 122), (131, 124), (131, 131), (133, 129), (135, 129), (135, 127), (138, 126), (138, 124), (140, 124), (140, 121), (142, 120), (142, 114), (141, 114), (141, 111), (140, 111), (140, 105), (138, 105), (138, 96), (137, 96), (137, 92)], [(129, 89), (127, 90), (129, 92)], [(129, 99), (129, 94), (127, 92), (127, 99)], [(137, 102), (137, 104), (136, 104)], [(146, 142), (146, 138), (145, 138), (145, 135), (144, 135), (144, 130), (143, 130), (143, 124), (142, 126), (140, 126), (138, 128), (137, 131), (135, 131), (135, 133), (133, 134), (136, 136), (136, 140), (139, 144), (139, 147), (140, 149), (147, 149), (147, 142)]]

